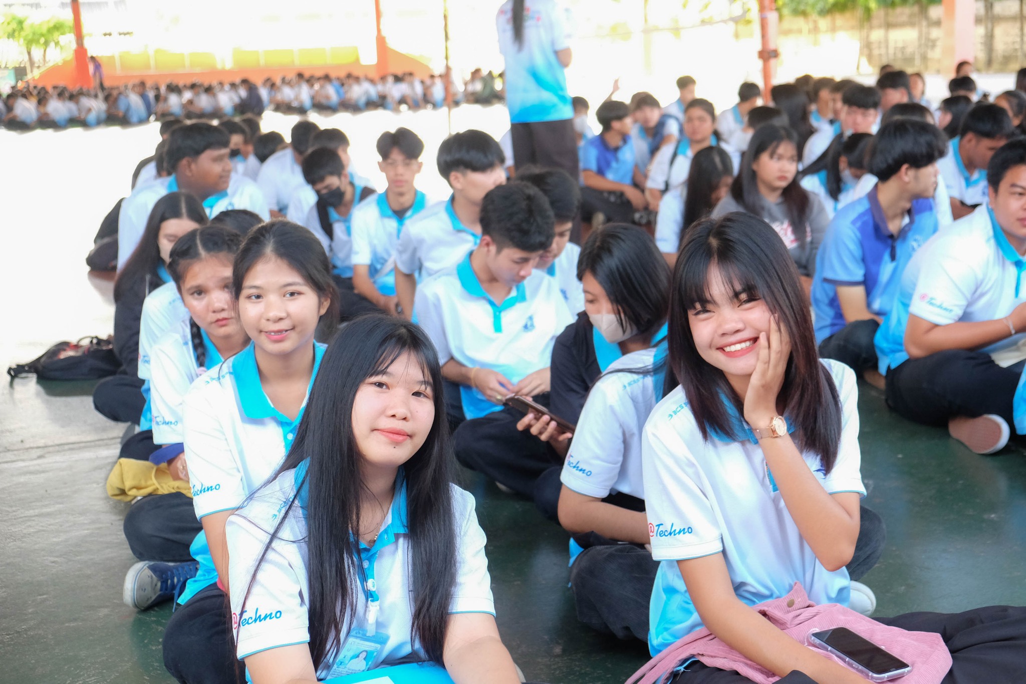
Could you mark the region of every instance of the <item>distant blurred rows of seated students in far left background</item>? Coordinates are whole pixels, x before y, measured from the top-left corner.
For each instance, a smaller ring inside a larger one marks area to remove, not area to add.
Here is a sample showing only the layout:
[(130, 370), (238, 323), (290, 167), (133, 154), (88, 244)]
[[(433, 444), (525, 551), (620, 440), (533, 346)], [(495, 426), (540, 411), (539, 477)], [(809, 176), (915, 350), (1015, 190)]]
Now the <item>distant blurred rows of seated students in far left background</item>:
[[(475, 69), (449, 88), (455, 105), (494, 105), (505, 99), (502, 75)], [(27, 84), (0, 99), (0, 122), (9, 130), (139, 124), (156, 119), (218, 119), (265, 111), (286, 114), (365, 112), (445, 106), (445, 77), (421, 79), (411, 73), (366, 76), (282, 76), (254, 83), (157, 83), (137, 81), (117, 87), (69, 88)]]

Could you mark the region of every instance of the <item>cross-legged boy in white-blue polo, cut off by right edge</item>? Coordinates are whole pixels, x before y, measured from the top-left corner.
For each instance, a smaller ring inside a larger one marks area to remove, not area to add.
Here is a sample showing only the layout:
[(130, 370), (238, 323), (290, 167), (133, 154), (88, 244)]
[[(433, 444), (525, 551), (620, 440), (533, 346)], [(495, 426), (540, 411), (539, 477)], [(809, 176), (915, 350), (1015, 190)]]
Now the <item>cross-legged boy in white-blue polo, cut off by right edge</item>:
[(887, 406), (947, 426), (976, 453), (1008, 442), (1026, 354), (1026, 140), (994, 153), (988, 202), (937, 234), (909, 263), (876, 333)]

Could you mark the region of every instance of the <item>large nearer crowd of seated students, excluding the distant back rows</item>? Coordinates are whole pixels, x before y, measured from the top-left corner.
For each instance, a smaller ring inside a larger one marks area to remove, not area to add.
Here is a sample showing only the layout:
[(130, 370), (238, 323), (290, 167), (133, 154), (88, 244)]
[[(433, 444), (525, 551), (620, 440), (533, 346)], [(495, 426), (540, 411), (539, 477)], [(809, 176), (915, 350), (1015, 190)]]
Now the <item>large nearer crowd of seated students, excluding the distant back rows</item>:
[[(306, 119), (162, 125), (100, 241), (124, 368), (94, 403), (166, 485), (125, 517), (123, 597), (176, 602), (167, 670), (519, 681), (459, 462), (567, 530), (578, 617), (662, 681), (864, 681), (753, 610), (875, 607), (859, 376), (977, 453), (1026, 424), (1023, 96), (944, 123), (912, 82), (745, 83), (717, 115), (682, 77), (575, 120), (581, 177), (465, 130), (436, 201), (406, 128), (378, 190)], [(923, 669), (933, 633), (932, 681), (1026, 671), (1024, 608), (867, 623)]]

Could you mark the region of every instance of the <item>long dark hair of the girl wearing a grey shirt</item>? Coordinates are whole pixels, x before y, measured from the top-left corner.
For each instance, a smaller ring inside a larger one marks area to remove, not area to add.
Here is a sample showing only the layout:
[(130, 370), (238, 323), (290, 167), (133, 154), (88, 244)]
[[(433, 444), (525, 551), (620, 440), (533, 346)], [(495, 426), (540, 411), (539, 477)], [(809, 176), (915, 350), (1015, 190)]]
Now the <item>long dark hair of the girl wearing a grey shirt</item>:
[[(759, 184), (755, 177), (755, 169), (752, 164), (762, 154), (774, 155), (783, 143), (790, 143), (794, 146), (795, 152), (800, 156), (801, 148), (798, 147), (798, 136), (787, 126), (767, 123), (759, 126), (752, 139), (748, 143), (748, 150), (741, 160), (741, 168), (738, 175), (734, 177), (731, 185), (731, 195), (745, 210), (756, 216), (762, 217), (763, 205), (766, 200), (759, 192)], [(791, 229), (794, 231), (794, 239), (798, 244), (804, 244), (808, 237), (808, 193), (798, 183), (798, 174), (784, 189), (781, 194), (784, 205), (787, 207), (787, 216), (791, 220)]]

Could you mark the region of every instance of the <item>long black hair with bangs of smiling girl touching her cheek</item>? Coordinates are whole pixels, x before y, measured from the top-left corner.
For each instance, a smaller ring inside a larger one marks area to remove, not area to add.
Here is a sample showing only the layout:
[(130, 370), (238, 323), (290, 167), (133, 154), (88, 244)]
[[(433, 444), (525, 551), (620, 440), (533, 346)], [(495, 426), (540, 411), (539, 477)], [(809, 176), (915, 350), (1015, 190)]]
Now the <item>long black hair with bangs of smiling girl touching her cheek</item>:
[[(710, 301), (710, 281), (722, 278), (738, 292), (762, 299), (791, 340), (780, 398), (796, 428), (795, 442), (820, 455), (827, 473), (837, 458), (840, 399), (826, 366), (820, 363), (808, 303), (798, 270), (777, 232), (758, 216), (734, 211), (706, 218), (687, 232), (677, 256), (670, 290), (669, 365), (683, 388), (702, 437), (711, 430), (735, 439), (723, 398), (744, 415), (739, 397), (723, 371), (699, 354), (688, 313)], [(670, 378), (667, 378), (669, 386)], [(758, 427), (758, 426), (757, 426)]]

